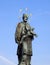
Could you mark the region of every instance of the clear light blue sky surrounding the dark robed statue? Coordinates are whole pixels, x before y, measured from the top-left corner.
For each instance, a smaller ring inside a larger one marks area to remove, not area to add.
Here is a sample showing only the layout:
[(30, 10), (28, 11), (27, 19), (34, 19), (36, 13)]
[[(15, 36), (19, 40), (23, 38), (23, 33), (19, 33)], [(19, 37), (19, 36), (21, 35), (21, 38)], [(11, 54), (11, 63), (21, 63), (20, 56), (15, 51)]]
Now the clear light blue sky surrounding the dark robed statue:
[(32, 65), (50, 65), (50, 0), (0, 0), (0, 65), (17, 65), (14, 33), (21, 19), (20, 8), (29, 17), (38, 37), (32, 42)]

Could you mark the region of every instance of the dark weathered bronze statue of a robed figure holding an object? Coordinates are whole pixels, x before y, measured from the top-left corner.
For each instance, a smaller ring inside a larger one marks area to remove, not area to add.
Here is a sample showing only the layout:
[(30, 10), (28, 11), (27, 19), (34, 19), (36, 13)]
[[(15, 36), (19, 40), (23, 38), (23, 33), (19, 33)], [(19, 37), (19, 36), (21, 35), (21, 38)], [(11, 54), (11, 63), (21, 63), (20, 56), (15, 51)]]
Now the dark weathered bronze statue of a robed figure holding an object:
[(18, 65), (31, 65), (32, 56), (32, 40), (34, 36), (34, 28), (27, 23), (28, 15), (23, 14), (23, 21), (18, 23), (15, 31), (15, 42), (18, 44), (17, 55)]

